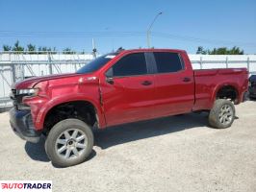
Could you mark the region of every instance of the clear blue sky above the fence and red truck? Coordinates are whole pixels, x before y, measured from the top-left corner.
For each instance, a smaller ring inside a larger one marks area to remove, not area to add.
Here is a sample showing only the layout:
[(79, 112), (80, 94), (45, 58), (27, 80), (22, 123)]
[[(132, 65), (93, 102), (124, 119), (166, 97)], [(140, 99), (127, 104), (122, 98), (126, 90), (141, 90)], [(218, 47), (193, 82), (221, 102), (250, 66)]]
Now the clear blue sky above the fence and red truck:
[(118, 47), (147, 47), (146, 31), (155, 48), (239, 46), (256, 54), (255, 0), (0, 0), (0, 50), (19, 40), (99, 53)]

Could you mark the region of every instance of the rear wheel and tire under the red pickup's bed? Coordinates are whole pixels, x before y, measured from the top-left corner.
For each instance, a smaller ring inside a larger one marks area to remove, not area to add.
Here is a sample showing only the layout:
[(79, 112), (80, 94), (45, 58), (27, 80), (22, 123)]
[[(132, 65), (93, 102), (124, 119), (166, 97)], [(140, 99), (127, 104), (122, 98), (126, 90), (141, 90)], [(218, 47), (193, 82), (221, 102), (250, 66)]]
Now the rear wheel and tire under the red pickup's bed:
[(234, 104), (225, 99), (218, 99), (209, 114), (210, 126), (218, 129), (229, 128), (236, 115)]

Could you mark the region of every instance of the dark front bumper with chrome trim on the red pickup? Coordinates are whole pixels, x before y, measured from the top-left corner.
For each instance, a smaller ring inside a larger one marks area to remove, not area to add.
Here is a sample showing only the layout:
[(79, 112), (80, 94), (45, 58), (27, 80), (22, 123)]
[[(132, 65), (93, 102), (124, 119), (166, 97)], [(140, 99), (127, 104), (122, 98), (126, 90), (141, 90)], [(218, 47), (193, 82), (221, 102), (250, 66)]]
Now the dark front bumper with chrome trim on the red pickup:
[(30, 111), (12, 108), (9, 114), (13, 132), (24, 140), (38, 143), (41, 132), (35, 130)]

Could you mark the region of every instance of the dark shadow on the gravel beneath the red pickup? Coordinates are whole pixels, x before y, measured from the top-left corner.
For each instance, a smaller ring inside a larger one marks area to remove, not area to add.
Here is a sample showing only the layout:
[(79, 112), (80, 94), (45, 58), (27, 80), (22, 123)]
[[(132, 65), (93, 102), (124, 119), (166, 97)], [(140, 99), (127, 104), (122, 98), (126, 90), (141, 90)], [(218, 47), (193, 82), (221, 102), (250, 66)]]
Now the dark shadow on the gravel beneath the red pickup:
[[(204, 113), (190, 113), (98, 130), (94, 132), (94, 145), (104, 150), (135, 140), (207, 126), (208, 119), (206, 117)], [(28, 156), (38, 161), (50, 161), (44, 150), (44, 141), (45, 138), (41, 137), (38, 143), (26, 142), (24, 148)], [(93, 156), (96, 156), (94, 150), (87, 160), (90, 160)]]

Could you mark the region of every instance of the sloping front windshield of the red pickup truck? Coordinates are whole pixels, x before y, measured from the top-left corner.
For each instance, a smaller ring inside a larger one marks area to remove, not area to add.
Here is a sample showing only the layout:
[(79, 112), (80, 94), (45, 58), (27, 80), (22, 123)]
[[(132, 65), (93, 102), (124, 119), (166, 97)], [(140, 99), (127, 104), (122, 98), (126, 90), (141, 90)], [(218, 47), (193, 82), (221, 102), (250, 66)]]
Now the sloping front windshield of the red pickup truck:
[(83, 67), (77, 70), (76, 73), (91, 73), (102, 66), (104, 66), (108, 61), (112, 60), (115, 58), (117, 54), (112, 53), (112, 54), (106, 54), (104, 56), (100, 56), (96, 58), (95, 60), (91, 60), (89, 63), (85, 64)]

